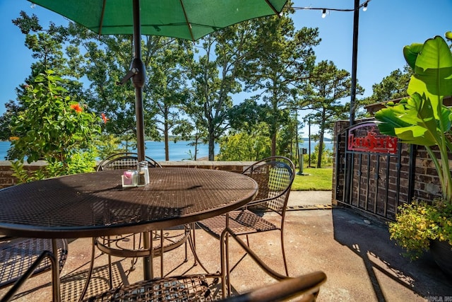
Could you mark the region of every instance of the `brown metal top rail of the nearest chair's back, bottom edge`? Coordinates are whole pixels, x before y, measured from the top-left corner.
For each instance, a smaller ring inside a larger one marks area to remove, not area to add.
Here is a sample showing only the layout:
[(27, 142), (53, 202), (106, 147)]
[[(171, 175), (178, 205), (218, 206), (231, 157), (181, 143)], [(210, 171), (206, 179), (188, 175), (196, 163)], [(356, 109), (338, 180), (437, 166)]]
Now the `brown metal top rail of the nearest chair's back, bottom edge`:
[(316, 301), (320, 286), (326, 281), (324, 272), (313, 272), (295, 278), (288, 278), (278, 283), (263, 286), (249, 293), (232, 296), (222, 301), (227, 302), (275, 302), (297, 298), (296, 301)]

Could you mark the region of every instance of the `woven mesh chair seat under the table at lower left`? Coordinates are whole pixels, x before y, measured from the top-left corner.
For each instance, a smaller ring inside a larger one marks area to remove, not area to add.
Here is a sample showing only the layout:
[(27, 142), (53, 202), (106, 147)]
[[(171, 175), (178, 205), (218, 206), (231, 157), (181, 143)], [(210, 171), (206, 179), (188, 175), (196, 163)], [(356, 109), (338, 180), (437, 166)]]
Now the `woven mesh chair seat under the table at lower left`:
[[(57, 239), (57, 246), (57, 262), (61, 271), (66, 263), (68, 243), (65, 239)], [(18, 281), (46, 250), (52, 251), (51, 239), (0, 236), (0, 289)], [(44, 258), (35, 267), (32, 276), (49, 271), (51, 265), (50, 260)]]

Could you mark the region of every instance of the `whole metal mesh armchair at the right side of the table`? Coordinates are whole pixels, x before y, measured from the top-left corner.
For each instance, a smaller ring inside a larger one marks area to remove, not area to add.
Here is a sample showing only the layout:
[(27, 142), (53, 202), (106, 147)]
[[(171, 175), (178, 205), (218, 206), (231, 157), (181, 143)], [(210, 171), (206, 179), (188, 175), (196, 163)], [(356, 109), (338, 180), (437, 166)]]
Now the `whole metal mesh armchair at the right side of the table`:
[[(256, 199), (242, 209), (205, 219), (197, 224), (210, 235), (220, 239), (228, 223), (232, 233), (246, 236), (248, 244), (250, 234), (280, 231), (285, 274), (289, 276), (284, 248), (284, 221), (290, 188), (295, 178), (295, 165), (284, 156), (272, 156), (249, 166), (243, 174), (258, 183), (259, 192)], [(270, 210), (278, 214), (280, 216), (278, 225), (268, 221), (259, 210)], [(227, 217), (229, 219), (226, 223)]]

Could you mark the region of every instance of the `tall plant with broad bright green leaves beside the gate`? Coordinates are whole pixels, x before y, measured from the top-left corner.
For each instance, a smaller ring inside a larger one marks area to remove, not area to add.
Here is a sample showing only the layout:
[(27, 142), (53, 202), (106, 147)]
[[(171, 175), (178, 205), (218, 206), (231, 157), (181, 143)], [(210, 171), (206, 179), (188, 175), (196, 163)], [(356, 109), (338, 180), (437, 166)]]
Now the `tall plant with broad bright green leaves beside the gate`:
[[(448, 152), (452, 144), (452, 110), (443, 104), (445, 95), (452, 95), (452, 54), (446, 41), (436, 36), (424, 45), (412, 44), (403, 50), (405, 59), (414, 69), (408, 86), (409, 98), (397, 105), (389, 104), (376, 112), (383, 134), (398, 137), (408, 144), (425, 147), (434, 162), (441, 182), (443, 199), (452, 202), (452, 178)], [(438, 146), (436, 158), (432, 146)]]

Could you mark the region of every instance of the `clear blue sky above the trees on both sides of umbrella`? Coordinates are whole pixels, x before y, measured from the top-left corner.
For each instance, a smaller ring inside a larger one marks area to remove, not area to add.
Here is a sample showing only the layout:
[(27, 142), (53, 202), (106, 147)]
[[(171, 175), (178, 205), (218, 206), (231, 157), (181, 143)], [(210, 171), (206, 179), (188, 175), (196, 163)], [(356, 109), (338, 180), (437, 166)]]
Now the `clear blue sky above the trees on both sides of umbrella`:
[[(361, 0), (363, 3), (364, 0)], [(294, 0), (296, 7), (353, 8), (353, 0)], [(15, 88), (30, 74), (31, 52), (24, 45), (25, 35), (11, 23), (20, 11), (35, 13), (42, 24), (57, 25), (67, 21), (40, 6), (31, 7), (25, 0), (0, 0), (0, 114), (4, 103), (16, 98)], [(331, 60), (339, 69), (352, 71), (353, 13), (297, 10), (292, 16), (297, 28), (319, 28), (321, 44), (315, 48), (317, 60)], [(395, 69), (403, 69), (402, 49), (412, 42), (424, 42), (452, 30), (452, 0), (371, 0), (367, 11), (359, 12), (357, 80), (372, 93)], [(359, 96), (358, 96), (359, 98)], [(307, 130), (307, 129), (306, 129)], [(314, 134), (315, 130), (311, 129)], [(307, 133), (307, 132), (305, 132)]]

